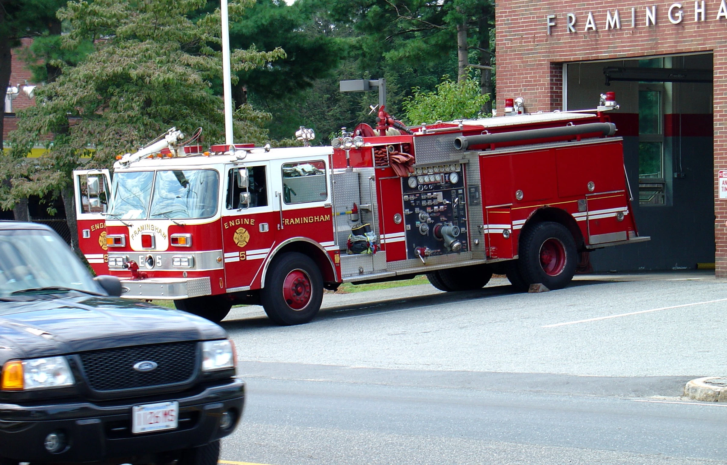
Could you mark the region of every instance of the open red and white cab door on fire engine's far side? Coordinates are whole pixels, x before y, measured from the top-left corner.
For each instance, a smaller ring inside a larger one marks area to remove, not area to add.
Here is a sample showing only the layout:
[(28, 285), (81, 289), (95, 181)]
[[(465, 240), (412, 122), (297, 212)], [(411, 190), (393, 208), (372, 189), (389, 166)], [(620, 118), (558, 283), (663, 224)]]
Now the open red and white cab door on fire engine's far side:
[(111, 199), (108, 169), (73, 171), (79, 248), (97, 275), (108, 275), (106, 217)]

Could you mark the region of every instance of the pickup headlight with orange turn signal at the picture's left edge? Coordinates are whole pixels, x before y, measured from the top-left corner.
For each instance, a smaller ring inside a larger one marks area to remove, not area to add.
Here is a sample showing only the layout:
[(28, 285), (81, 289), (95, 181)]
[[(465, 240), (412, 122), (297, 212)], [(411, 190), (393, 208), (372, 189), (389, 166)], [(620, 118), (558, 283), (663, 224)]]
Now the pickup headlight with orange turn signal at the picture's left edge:
[(75, 382), (65, 357), (10, 360), (2, 368), (1, 389), (4, 391), (73, 386)]

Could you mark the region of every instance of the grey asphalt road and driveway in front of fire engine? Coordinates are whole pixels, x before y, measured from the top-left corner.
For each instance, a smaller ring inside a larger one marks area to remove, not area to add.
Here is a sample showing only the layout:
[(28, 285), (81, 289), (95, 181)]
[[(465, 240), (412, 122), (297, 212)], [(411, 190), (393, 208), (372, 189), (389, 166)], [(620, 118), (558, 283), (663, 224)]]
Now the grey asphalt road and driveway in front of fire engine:
[(727, 464), (727, 283), (578, 278), (544, 294), (431, 286), (326, 295), (312, 323), (223, 323), (248, 382), (222, 458), (257, 464)]

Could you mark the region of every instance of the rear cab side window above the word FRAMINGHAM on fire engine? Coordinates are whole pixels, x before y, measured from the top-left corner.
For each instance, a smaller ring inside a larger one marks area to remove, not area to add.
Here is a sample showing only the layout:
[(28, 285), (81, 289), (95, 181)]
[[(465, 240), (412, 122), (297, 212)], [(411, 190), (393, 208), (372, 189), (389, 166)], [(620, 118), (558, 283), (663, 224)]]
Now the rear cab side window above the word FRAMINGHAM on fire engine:
[(283, 165), (285, 203), (321, 202), (326, 198), (326, 163), (323, 160)]

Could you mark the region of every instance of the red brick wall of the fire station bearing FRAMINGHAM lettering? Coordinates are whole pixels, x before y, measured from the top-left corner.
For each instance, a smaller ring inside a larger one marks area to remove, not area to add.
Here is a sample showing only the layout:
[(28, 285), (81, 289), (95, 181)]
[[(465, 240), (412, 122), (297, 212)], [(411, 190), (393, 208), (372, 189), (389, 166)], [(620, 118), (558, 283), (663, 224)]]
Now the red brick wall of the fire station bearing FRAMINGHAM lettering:
[[(561, 109), (565, 62), (712, 52), (715, 266), (718, 277), (727, 278), (727, 201), (720, 201), (717, 191), (717, 172), (727, 169), (727, 4), (725, 0), (680, 4), (681, 8), (671, 1), (498, 1), (497, 110), (502, 111), (505, 97), (523, 97), (529, 112)], [(655, 13), (653, 22), (647, 8)], [(613, 19), (616, 11), (620, 28), (607, 23), (607, 16)], [(573, 21), (569, 13), (575, 17), (575, 32), (568, 28)]]

